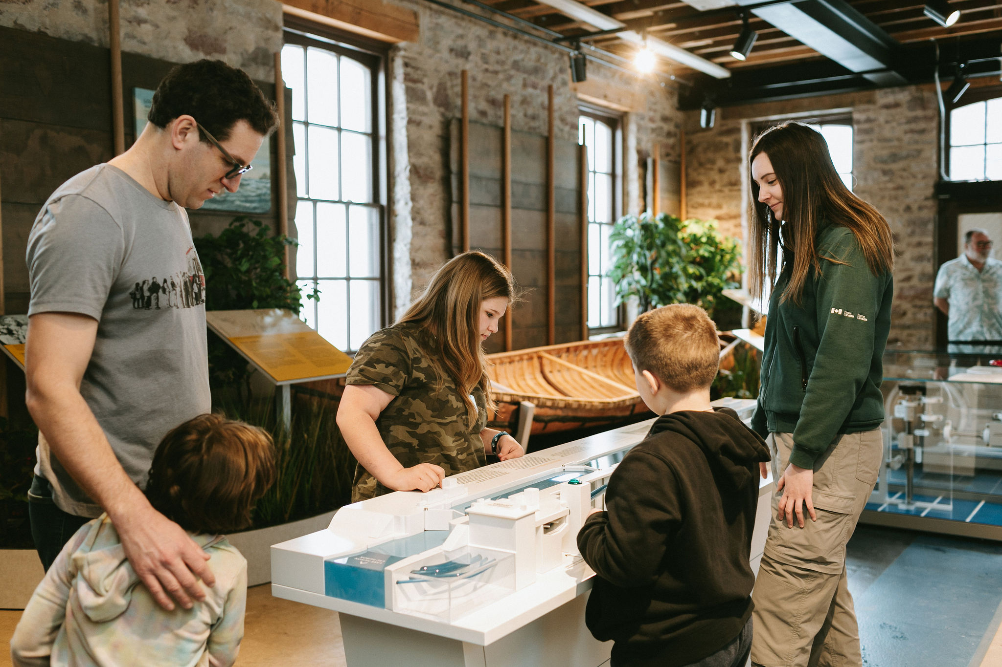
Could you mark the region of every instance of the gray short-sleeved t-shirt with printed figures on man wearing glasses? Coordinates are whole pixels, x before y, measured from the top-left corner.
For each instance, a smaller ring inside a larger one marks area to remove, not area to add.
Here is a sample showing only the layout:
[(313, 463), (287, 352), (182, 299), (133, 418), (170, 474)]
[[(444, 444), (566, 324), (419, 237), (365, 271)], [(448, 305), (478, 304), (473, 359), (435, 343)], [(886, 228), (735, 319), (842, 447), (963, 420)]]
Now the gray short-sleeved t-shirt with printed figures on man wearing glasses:
[[(211, 410), (205, 283), (187, 213), (125, 172), (101, 164), (45, 202), (28, 237), (28, 315), (97, 320), (80, 393), (125, 472), (140, 487), (160, 439)], [(101, 509), (39, 436), (36, 474), (56, 505), (78, 516)]]

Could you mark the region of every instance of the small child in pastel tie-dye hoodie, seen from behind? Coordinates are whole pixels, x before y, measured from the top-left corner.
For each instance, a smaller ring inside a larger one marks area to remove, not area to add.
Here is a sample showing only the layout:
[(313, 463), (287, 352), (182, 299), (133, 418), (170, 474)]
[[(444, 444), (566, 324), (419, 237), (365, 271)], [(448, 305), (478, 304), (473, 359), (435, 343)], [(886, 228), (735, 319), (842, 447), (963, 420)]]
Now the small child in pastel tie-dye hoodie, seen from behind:
[(275, 480), (271, 437), (200, 415), (168, 433), (146, 484), (150, 504), (209, 554), (215, 586), (165, 611), (140, 583), (106, 514), (82, 526), (35, 589), (11, 639), (15, 667), (215, 667), (243, 638), (246, 561), (220, 533), (245, 528)]

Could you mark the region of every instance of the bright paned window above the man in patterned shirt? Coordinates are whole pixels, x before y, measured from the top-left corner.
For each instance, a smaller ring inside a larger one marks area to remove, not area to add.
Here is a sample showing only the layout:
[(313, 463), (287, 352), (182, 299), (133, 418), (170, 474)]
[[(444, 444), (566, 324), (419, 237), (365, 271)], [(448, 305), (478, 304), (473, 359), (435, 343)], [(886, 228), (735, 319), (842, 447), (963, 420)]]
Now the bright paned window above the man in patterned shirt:
[(950, 179), (1002, 181), (1002, 99), (950, 111)]

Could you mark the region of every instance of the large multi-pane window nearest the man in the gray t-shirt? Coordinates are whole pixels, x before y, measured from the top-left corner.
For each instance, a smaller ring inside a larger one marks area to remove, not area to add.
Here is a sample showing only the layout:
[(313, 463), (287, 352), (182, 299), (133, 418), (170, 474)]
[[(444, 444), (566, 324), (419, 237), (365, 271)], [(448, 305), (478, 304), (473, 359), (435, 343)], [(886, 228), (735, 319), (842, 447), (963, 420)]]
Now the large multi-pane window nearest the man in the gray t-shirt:
[[(379, 66), (376, 56), (294, 32), (282, 49), (293, 91), (302, 315), (346, 351), (384, 322)], [(307, 299), (315, 287), (320, 299)]]

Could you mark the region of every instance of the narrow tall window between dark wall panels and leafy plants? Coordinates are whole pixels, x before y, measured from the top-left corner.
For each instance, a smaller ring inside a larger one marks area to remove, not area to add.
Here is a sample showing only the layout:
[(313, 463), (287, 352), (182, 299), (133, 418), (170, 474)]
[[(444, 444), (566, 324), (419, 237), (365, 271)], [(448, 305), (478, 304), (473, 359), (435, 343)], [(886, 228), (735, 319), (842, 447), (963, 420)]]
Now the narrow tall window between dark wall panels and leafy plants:
[(588, 328), (619, 325), (610, 266), (609, 234), (618, 210), (618, 121), (592, 113), (578, 118), (578, 143), (588, 147)]

